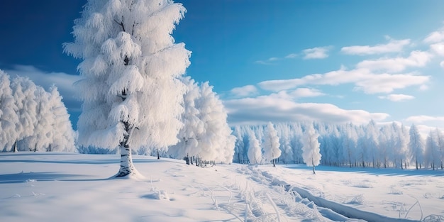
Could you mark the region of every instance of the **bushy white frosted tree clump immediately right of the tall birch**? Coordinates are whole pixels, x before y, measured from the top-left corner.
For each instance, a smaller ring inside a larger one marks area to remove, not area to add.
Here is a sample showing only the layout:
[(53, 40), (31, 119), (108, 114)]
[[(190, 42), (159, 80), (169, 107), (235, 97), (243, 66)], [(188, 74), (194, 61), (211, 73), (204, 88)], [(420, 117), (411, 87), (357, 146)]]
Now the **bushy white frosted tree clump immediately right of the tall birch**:
[(184, 128), (177, 137), (179, 143), (170, 147), (173, 157), (199, 156), (202, 160), (231, 163), (235, 137), (227, 123), (227, 113), (208, 82), (198, 86), (190, 77), (184, 94)]

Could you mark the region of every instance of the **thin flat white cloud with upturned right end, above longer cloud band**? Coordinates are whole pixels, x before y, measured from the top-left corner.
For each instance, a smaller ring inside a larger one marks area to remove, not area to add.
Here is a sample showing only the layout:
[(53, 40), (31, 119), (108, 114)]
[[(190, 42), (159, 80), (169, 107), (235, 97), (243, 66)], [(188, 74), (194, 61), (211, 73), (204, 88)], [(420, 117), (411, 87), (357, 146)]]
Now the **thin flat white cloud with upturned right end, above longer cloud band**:
[[(389, 37), (387, 37), (389, 38)], [(404, 46), (410, 44), (410, 39), (394, 40), (389, 38), (389, 43), (379, 45), (353, 45), (340, 49), (341, 52), (349, 55), (374, 55), (387, 52), (401, 52)]]

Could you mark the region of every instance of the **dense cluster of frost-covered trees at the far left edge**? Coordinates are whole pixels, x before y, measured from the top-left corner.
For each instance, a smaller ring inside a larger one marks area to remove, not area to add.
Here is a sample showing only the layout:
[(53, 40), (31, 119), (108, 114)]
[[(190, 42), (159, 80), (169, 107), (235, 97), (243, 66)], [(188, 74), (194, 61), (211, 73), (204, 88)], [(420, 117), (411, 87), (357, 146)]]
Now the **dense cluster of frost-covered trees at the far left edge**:
[(57, 87), (49, 91), (0, 70), (0, 150), (74, 152), (74, 131)]

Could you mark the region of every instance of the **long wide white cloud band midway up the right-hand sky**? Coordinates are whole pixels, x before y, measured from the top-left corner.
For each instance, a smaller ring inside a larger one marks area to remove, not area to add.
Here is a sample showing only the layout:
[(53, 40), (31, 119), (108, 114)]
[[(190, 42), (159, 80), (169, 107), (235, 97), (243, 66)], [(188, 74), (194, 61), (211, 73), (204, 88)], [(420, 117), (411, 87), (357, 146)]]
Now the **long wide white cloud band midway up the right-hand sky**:
[(411, 86), (425, 86), (430, 76), (416, 74), (374, 74), (367, 69), (336, 70), (325, 74), (310, 74), (298, 79), (278, 79), (260, 82), (258, 86), (265, 90), (281, 91), (296, 89), (304, 85), (338, 85), (355, 84), (355, 90), (367, 94), (390, 93), (394, 89), (404, 89)]

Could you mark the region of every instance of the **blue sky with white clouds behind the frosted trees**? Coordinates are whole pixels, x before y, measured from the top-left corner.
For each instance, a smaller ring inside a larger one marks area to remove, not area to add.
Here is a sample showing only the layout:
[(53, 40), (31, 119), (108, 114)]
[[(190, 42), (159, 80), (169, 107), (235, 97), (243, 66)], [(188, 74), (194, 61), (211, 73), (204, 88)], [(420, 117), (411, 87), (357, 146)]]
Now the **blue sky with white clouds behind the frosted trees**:
[[(444, 128), (444, 1), (183, 0), (187, 74), (231, 125), (267, 121)], [(79, 60), (62, 53), (86, 1), (0, 4), (0, 69), (55, 83), (74, 125)]]

